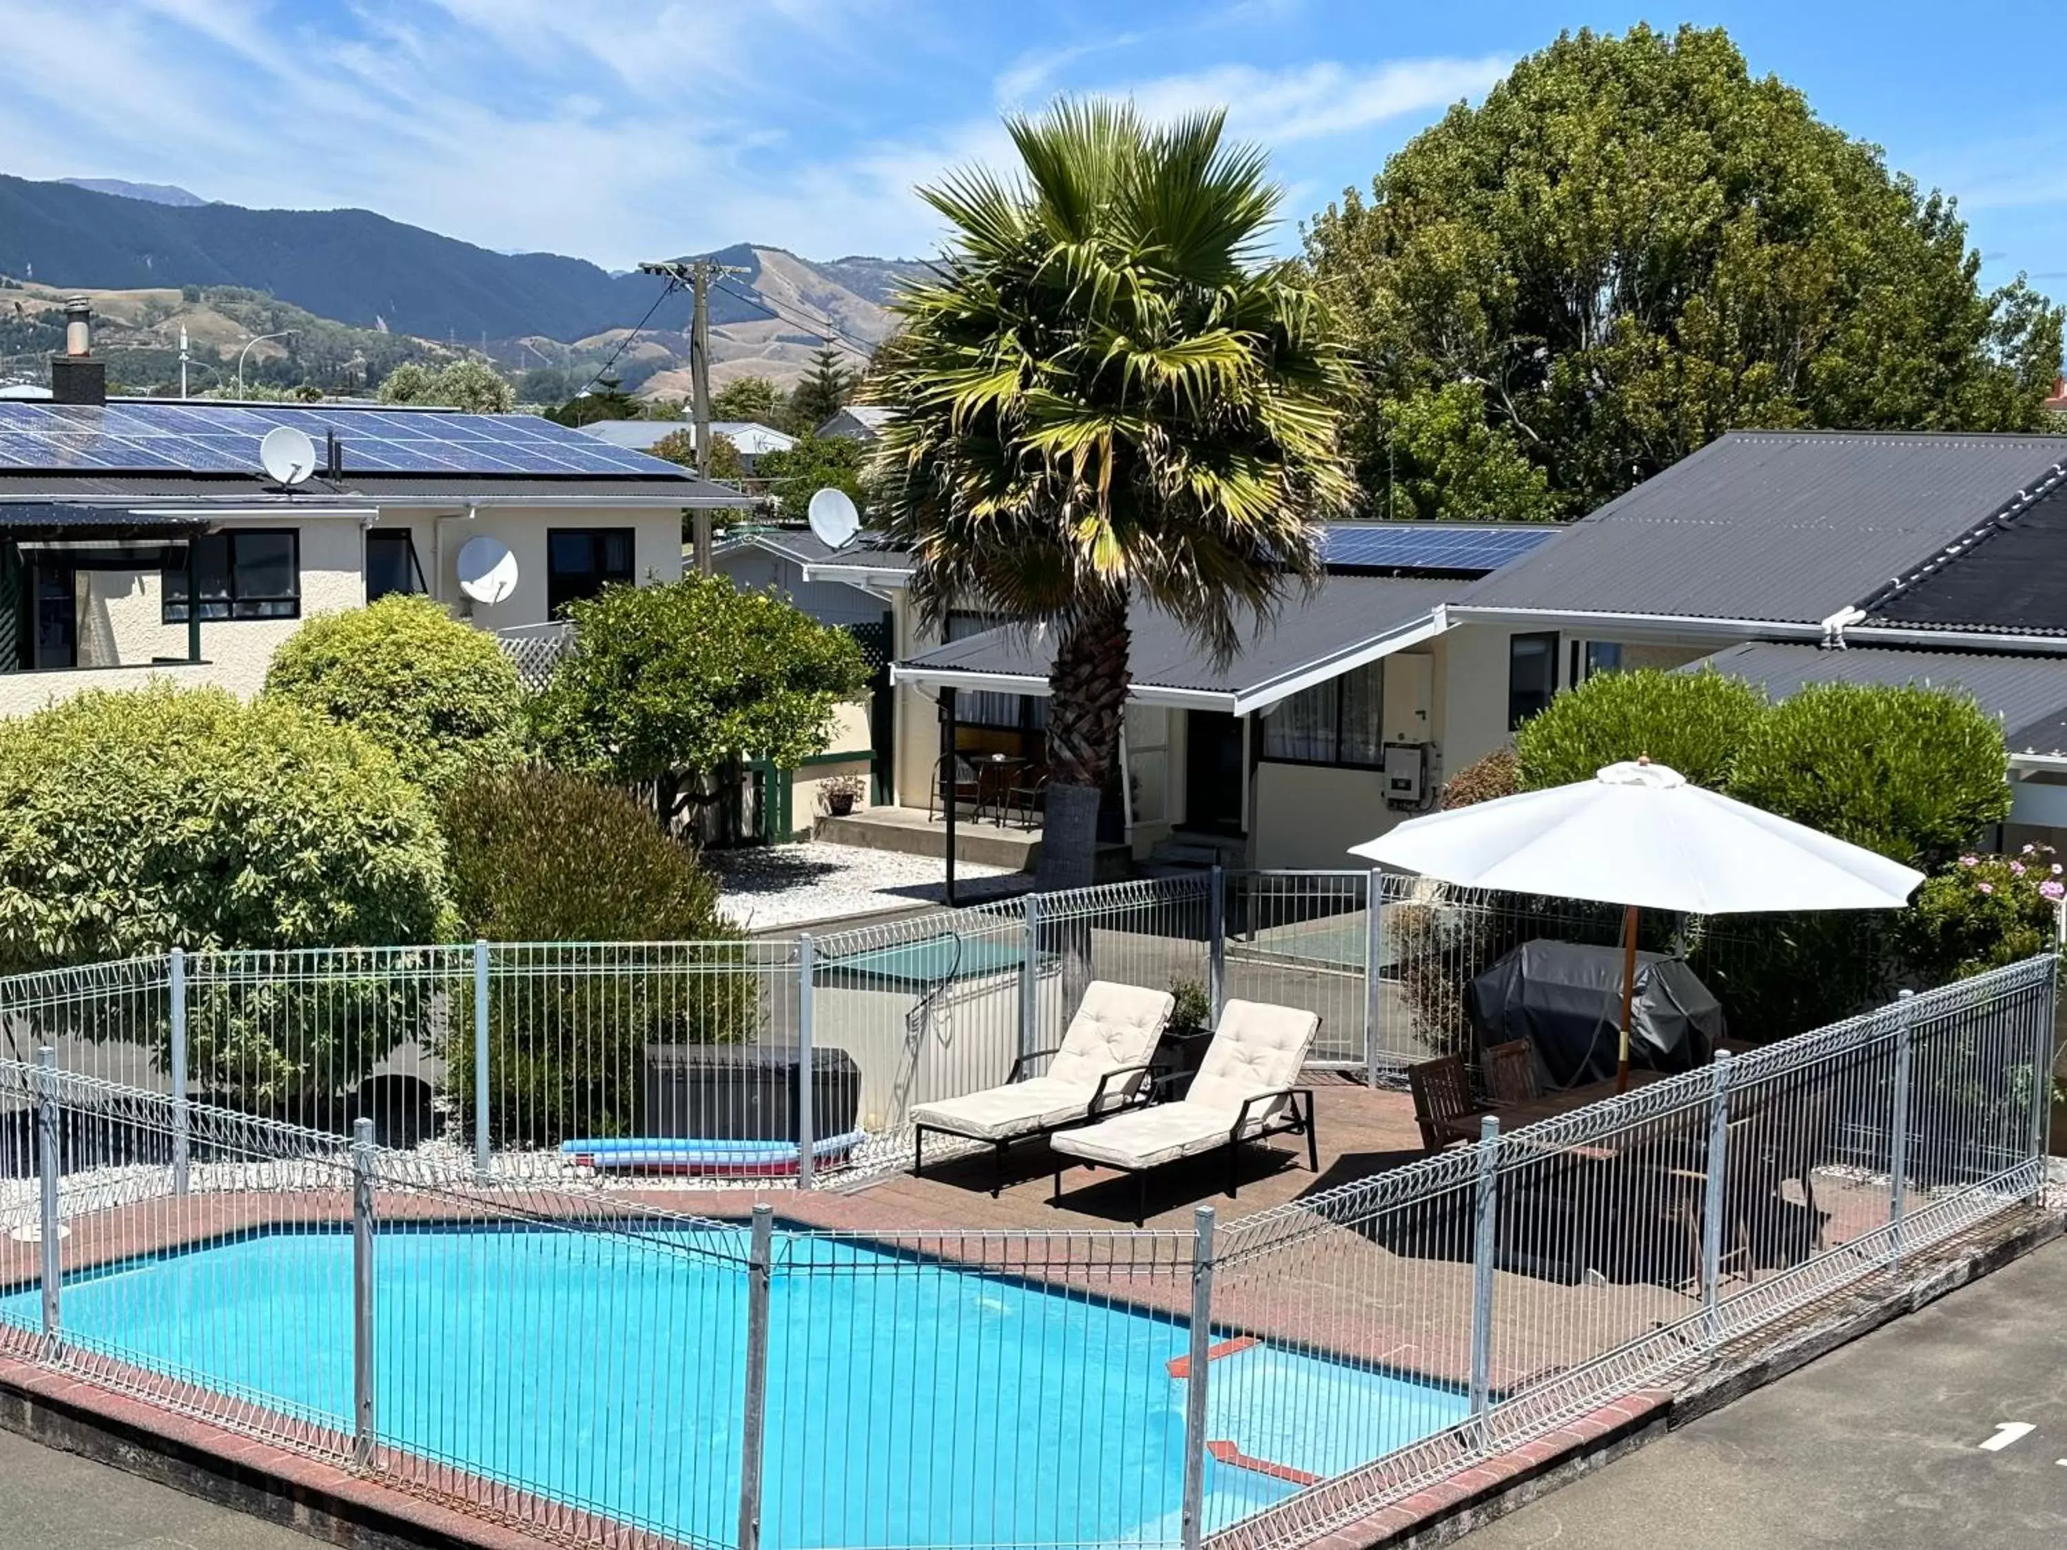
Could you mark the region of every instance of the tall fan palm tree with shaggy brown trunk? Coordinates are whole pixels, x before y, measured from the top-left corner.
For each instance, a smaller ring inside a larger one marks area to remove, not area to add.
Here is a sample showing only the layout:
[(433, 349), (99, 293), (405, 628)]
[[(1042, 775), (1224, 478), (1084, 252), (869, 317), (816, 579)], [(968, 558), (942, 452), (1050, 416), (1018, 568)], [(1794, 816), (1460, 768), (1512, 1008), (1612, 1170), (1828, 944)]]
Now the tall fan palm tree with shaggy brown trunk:
[(1044, 889), (1091, 880), (1129, 603), (1226, 661), (1350, 504), (1350, 362), (1267, 260), (1279, 190), (1222, 122), (1102, 99), (1009, 118), (1017, 178), (920, 190), (955, 234), (868, 384), (893, 409), (872, 517), (916, 558), (920, 618), (978, 608), (1054, 643)]

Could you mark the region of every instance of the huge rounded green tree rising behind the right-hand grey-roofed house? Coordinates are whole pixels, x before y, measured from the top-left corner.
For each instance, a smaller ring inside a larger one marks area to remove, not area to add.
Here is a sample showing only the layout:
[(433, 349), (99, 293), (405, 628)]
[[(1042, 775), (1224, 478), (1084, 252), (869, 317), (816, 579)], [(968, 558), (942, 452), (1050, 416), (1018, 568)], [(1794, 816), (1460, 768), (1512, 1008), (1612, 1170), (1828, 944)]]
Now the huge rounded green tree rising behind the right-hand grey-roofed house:
[(1953, 200), (1720, 29), (1559, 37), (1306, 256), (1364, 360), (1372, 515), (1581, 515), (1738, 426), (2032, 430), (2061, 362), (2059, 308), (1980, 287)]

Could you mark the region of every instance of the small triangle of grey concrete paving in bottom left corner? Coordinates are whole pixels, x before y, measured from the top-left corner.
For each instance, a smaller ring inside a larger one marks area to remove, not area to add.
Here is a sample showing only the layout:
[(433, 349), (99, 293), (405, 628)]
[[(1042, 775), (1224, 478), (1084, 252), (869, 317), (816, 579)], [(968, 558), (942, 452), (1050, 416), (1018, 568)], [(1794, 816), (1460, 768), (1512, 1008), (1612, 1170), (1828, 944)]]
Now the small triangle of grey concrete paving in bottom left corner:
[(0, 1550), (310, 1550), (316, 1542), (0, 1432)]

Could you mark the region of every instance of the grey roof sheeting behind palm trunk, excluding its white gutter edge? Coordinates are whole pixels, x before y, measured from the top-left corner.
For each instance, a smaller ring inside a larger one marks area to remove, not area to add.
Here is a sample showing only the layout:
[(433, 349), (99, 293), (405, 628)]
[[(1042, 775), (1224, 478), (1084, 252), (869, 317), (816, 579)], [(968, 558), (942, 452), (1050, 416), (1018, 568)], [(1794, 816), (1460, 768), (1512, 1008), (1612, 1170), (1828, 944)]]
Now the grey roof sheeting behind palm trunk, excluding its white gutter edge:
[[(1457, 593), (1455, 581), (1426, 577), (1331, 577), (1313, 597), (1290, 597), (1273, 624), (1257, 626), (1226, 665), (1168, 614), (1137, 603), (1129, 614), (1129, 665), (1135, 688), (1174, 688), (1246, 696), (1300, 672), (1323, 668), (1360, 647), (1412, 628)], [(1046, 678), (1054, 645), (1046, 630), (998, 628), (922, 651), (912, 670)]]

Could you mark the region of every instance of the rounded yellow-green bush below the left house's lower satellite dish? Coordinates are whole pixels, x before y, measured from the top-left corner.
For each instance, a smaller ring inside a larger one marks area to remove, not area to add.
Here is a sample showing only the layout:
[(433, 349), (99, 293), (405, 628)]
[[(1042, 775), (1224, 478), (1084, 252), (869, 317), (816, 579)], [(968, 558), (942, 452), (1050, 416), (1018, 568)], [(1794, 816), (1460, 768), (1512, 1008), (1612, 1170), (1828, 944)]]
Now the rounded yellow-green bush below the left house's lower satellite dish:
[(523, 746), (523, 684), (494, 637), (428, 597), (318, 614), (281, 643), (267, 694), (364, 732), (401, 773), (444, 792)]

